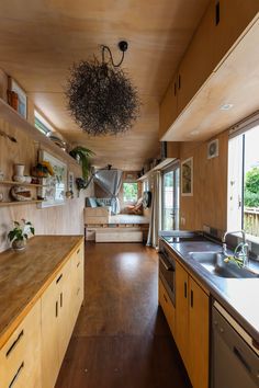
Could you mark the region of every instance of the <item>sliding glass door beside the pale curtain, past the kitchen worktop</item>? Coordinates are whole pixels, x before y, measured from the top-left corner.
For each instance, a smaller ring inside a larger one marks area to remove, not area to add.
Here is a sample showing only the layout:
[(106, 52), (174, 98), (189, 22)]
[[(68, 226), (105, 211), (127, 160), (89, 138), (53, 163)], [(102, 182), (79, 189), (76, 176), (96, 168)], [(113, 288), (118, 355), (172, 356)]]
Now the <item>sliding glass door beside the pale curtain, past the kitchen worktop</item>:
[(179, 163), (162, 173), (162, 230), (179, 229)]

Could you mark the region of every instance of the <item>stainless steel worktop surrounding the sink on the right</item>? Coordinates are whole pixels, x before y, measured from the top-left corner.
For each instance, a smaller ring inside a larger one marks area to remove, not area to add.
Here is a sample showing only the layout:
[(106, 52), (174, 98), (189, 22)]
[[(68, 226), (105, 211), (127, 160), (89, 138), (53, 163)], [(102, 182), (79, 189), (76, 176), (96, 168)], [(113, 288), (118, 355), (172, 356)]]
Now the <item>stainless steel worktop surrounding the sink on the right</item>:
[(226, 278), (211, 274), (190, 256), (190, 252), (218, 252), (222, 250), (219, 243), (212, 242), (204, 237), (178, 239), (176, 242), (173, 242), (173, 239), (171, 242), (165, 239), (164, 241), (179, 256), (189, 272), (206, 287), (210, 294), (259, 343), (259, 277)]

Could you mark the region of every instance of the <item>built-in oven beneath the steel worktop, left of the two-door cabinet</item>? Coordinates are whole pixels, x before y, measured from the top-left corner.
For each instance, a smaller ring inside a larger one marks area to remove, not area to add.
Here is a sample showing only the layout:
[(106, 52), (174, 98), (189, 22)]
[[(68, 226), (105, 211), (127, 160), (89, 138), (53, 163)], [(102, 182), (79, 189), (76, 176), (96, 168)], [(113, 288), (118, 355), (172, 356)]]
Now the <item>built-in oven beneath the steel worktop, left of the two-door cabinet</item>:
[(159, 241), (158, 254), (159, 278), (161, 279), (173, 306), (176, 306), (176, 260), (162, 240)]

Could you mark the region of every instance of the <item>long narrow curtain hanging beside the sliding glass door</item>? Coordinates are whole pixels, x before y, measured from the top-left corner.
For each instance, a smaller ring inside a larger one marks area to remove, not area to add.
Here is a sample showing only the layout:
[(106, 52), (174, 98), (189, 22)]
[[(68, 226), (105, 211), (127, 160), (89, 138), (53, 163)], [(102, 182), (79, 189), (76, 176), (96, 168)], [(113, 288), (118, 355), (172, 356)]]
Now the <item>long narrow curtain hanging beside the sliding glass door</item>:
[(151, 176), (151, 215), (149, 221), (147, 246), (158, 247), (158, 231), (161, 228), (161, 174), (156, 171)]

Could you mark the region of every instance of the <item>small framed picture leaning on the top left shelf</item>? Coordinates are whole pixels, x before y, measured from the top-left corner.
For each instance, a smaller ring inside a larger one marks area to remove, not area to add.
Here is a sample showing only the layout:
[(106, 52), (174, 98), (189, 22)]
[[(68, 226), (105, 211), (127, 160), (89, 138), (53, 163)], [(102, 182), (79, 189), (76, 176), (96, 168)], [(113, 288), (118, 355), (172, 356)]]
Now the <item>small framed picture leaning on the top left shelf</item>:
[(27, 96), (25, 91), (20, 87), (20, 84), (11, 77), (9, 77), (9, 91), (8, 91), (8, 102), (18, 113), (27, 118)]

